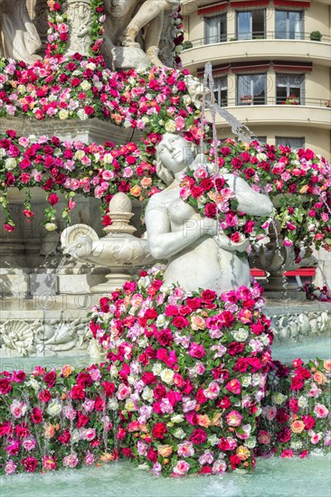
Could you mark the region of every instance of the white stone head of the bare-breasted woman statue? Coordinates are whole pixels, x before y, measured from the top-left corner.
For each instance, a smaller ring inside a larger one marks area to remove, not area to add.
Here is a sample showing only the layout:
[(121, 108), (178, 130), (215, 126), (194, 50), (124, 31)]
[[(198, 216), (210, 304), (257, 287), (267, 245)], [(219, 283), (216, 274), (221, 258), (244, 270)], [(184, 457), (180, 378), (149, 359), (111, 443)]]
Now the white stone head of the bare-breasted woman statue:
[(156, 173), (166, 183), (174, 180), (175, 173), (180, 173), (194, 162), (196, 152), (193, 144), (183, 136), (165, 133), (156, 145)]

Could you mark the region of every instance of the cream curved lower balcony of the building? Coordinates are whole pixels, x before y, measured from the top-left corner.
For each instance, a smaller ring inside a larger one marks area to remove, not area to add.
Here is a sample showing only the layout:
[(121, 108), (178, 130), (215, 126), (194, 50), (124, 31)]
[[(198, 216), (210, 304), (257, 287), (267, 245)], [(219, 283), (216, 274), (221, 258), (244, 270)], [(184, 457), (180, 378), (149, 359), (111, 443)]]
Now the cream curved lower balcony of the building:
[[(229, 98), (221, 101), (223, 108), (229, 110), (242, 123), (250, 125), (295, 125), (296, 127), (317, 127), (329, 129), (331, 111), (326, 106), (328, 101), (320, 98), (305, 98), (305, 105), (281, 105), (276, 98), (267, 99), (267, 104), (260, 105), (253, 100), (251, 103), (237, 102)], [(210, 118), (210, 116), (207, 116)], [(224, 125), (222, 117), (217, 115), (217, 125)]]

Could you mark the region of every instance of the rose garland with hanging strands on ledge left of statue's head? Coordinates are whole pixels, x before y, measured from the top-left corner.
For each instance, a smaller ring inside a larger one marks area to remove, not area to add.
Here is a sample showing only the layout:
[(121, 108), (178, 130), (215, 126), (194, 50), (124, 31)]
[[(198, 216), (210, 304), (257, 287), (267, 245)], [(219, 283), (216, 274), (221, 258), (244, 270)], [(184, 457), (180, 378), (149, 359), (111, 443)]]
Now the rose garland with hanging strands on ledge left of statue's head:
[[(31, 188), (39, 186), (45, 192), (49, 206), (44, 223), (47, 229), (54, 223), (59, 193), (67, 197), (62, 217), (70, 221), (75, 206), (75, 193), (94, 196), (104, 202), (104, 213), (111, 197), (126, 192), (140, 202), (159, 192), (156, 168), (142, 160), (137, 145), (85, 145), (79, 140), (61, 141), (56, 136), (16, 136), (14, 130), (0, 136), (0, 171), (4, 177), (0, 203), (5, 211), (5, 230), (14, 230), (14, 220), (8, 210), (7, 188), (17, 187), (25, 192), (23, 214), (32, 220)], [(5, 188), (4, 188), (5, 187)], [(104, 216), (104, 224), (109, 216)]]

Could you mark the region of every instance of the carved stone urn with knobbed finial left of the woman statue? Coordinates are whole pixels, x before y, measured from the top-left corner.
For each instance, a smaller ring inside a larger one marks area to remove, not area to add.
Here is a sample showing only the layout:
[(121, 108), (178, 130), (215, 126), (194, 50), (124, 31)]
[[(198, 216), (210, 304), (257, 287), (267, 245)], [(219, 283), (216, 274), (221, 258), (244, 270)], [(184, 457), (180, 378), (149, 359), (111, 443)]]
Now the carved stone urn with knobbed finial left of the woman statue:
[(134, 267), (150, 265), (154, 258), (149, 253), (147, 239), (133, 235), (131, 226), (132, 203), (125, 193), (118, 192), (109, 202), (110, 226), (107, 235), (99, 239), (95, 230), (86, 224), (75, 224), (61, 234), (63, 254), (80, 262), (108, 267), (107, 282), (91, 286), (92, 293), (109, 293), (132, 277)]

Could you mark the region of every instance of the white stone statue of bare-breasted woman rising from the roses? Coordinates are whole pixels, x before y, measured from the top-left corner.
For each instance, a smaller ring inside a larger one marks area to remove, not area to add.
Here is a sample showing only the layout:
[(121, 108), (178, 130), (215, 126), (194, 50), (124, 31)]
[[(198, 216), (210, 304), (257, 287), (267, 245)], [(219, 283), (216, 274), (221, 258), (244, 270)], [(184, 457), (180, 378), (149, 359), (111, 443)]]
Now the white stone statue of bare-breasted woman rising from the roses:
[[(187, 167), (201, 162), (186, 140), (166, 133), (156, 147), (159, 176), (168, 183), (156, 193), (146, 211), (147, 239), (151, 255), (168, 259), (165, 284), (178, 282), (186, 291), (209, 288), (218, 292), (250, 286), (247, 258), (239, 257), (248, 240), (234, 243), (217, 232), (217, 221), (203, 218), (179, 195), (179, 184)], [(267, 195), (255, 192), (243, 179), (223, 174), (239, 202), (238, 210), (255, 216), (270, 216)]]

